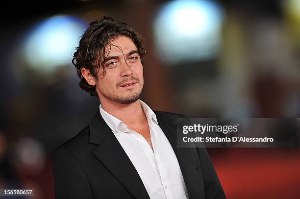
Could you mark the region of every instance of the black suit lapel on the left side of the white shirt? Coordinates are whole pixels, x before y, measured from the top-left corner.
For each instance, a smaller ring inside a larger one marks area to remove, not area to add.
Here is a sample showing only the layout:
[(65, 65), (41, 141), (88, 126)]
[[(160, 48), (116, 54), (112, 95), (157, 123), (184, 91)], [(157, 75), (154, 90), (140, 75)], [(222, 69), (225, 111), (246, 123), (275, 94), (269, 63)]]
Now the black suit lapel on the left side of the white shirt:
[(149, 199), (139, 174), (99, 111), (90, 123), (90, 143), (99, 145), (94, 155), (135, 198)]

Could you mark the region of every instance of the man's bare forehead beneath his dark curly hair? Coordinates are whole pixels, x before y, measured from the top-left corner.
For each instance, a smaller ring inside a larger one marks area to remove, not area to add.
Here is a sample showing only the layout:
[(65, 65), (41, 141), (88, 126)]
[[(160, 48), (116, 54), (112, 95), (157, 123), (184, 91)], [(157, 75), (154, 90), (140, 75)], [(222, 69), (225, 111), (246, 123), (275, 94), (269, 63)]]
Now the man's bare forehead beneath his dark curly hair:
[(105, 46), (106, 53), (109, 52), (107, 56), (118, 56), (130, 52), (131, 50), (137, 50), (133, 41), (126, 36), (118, 36), (110, 40), (110, 43), (111, 44)]

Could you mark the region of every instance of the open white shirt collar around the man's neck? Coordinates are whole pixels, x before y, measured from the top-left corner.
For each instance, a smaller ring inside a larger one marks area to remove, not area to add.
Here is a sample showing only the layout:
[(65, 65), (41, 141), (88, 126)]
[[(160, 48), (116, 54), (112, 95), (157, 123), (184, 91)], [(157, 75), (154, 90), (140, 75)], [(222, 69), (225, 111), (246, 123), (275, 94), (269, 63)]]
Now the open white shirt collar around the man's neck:
[[(140, 100), (141, 107), (144, 111), (144, 114), (147, 117), (148, 124), (152, 124), (154, 121), (156, 124), (158, 124), (155, 113), (151, 110), (151, 108), (142, 100)], [(105, 121), (105, 123), (112, 129), (114, 133), (118, 130), (121, 130), (123, 132), (129, 132), (128, 127), (126, 124), (124, 124), (123, 121), (119, 120), (118, 118), (112, 116), (111, 114), (107, 113), (102, 107), (101, 104), (99, 106), (100, 114)]]

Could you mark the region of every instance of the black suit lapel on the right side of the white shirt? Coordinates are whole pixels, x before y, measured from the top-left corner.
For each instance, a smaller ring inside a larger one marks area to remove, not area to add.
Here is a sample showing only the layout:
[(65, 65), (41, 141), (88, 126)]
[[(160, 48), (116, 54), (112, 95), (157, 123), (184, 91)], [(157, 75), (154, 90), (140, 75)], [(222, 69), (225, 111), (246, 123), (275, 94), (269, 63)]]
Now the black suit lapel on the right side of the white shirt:
[[(159, 116), (158, 116), (159, 115)], [(173, 121), (169, 121), (167, 118), (161, 116), (161, 114), (156, 114), (157, 122), (160, 128), (165, 133), (168, 138), (175, 155), (177, 157), (180, 170), (186, 185), (186, 189), (190, 199), (201, 199), (204, 198), (203, 193), (200, 192), (200, 187), (204, 186), (195, 176), (198, 176), (195, 169), (194, 162), (195, 155), (193, 155), (193, 149), (191, 148), (178, 148), (177, 147), (177, 126)], [(193, 158), (194, 157), (194, 158)], [(204, 190), (204, 187), (203, 189)]]

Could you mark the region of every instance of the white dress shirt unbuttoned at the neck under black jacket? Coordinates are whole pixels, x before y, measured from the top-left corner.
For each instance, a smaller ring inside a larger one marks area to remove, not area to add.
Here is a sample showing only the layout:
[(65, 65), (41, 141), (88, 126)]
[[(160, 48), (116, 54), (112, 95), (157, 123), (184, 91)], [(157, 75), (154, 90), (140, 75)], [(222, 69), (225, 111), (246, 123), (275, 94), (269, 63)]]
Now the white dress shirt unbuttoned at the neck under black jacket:
[(154, 152), (141, 134), (128, 129), (124, 122), (104, 111), (101, 104), (100, 114), (140, 175), (150, 199), (188, 199), (174, 150), (154, 112), (145, 102), (140, 102), (148, 120)]

